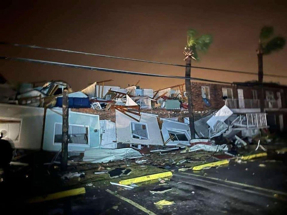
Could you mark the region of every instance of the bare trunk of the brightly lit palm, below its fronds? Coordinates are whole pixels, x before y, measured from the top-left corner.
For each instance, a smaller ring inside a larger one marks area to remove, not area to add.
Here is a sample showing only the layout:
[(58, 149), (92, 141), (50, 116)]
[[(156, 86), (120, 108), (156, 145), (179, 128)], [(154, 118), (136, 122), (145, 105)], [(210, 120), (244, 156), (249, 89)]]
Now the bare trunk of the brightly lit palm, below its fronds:
[[(185, 67), (185, 77), (190, 78), (191, 73), (191, 57), (186, 59), (186, 67)], [(192, 110), (192, 97), (191, 97), (191, 84), (190, 79), (185, 79), (185, 91), (188, 102), (188, 116), (189, 116), (189, 128), (191, 139), (195, 139), (195, 129), (194, 129), (194, 121), (193, 121), (193, 110)]]

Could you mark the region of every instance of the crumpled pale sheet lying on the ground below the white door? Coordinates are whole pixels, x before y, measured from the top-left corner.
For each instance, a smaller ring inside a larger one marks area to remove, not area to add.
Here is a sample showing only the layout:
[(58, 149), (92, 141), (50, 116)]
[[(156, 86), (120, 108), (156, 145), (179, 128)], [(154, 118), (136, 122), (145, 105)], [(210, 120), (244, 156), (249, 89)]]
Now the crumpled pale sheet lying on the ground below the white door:
[(108, 163), (125, 158), (140, 157), (141, 153), (133, 148), (93, 149), (85, 150), (83, 161), (92, 163)]

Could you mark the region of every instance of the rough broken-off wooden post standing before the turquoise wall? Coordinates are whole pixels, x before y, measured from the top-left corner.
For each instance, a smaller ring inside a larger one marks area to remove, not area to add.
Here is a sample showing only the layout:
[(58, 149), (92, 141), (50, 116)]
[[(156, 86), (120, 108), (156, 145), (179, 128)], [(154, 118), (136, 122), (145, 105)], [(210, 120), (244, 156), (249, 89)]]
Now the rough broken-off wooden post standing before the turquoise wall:
[(62, 124), (62, 161), (61, 170), (66, 171), (68, 165), (68, 131), (69, 131), (69, 98), (68, 90), (63, 91), (63, 124)]

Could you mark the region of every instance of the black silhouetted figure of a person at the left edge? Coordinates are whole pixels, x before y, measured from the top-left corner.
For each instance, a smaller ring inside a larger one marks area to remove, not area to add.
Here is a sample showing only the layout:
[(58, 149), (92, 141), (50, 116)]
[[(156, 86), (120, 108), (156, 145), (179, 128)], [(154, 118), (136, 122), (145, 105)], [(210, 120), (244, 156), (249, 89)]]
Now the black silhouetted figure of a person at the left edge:
[[(0, 168), (3, 169), (4, 182), (9, 181), (10, 176), (10, 162), (13, 157), (13, 148), (8, 140), (3, 140), (6, 131), (1, 131), (0, 136)], [(3, 134), (4, 133), (4, 134)]]

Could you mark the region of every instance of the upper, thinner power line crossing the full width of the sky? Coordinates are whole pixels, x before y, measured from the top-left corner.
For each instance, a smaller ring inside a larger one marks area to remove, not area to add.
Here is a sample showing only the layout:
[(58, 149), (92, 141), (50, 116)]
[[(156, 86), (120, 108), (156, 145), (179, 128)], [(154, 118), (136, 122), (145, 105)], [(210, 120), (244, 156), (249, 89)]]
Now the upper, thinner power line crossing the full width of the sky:
[[(108, 58), (116, 58), (116, 59), (122, 59), (122, 60), (132, 60), (132, 61), (139, 61), (139, 62), (164, 64), (164, 65), (176, 66), (176, 67), (186, 67), (186, 65), (182, 65), (182, 64), (173, 64), (173, 63), (158, 62), (158, 61), (152, 61), (152, 60), (141, 60), (141, 59), (135, 59), (135, 58), (124, 58), (124, 57), (117, 57), (117, 56), (104, 55), (104, 54), (94, 54), (94, 53), (89, 53), (89, 52), (78, 52), (78, 51), (72, 51), (72, 50), (65, 50), (65, 49), (59, 49), (59, 48), (46, 48), (46, 47), (41, 47), (41, 46), (36, 46), (36, 45), (32, 46), (32, 45), (6, 43), (6, 42), (0, 42), (0, 44), (11, 45), (11, 46), (21, 46), (21, 47), (28, 47), (28, 48), (38, 48), (38, 49), (45, 49), (45, 50), (54, 50), (54, 51), (68, 52), (68, 53), (93, 55), (93, 56), (108, 57)], [(190, 66), (190, 67), (196, 68), (196, 69), (215, 70), (215, 71), (230, 72), (230, 73), (241, 73), (241, 74), (246, 74), (246, 75), (258, 75), (258, 73), (251, 73), (251, 72), (244, 72), (244, 71), (237, 71), (237, 70), (216, 69), (216, 68), (210, 68), (210, 67), (195, 67), (195, 66)], [(285, 76), (285, 75), (264, 74), (264, 76), (277, 77), (277, 78), (287, 78), (287, 76)]]

